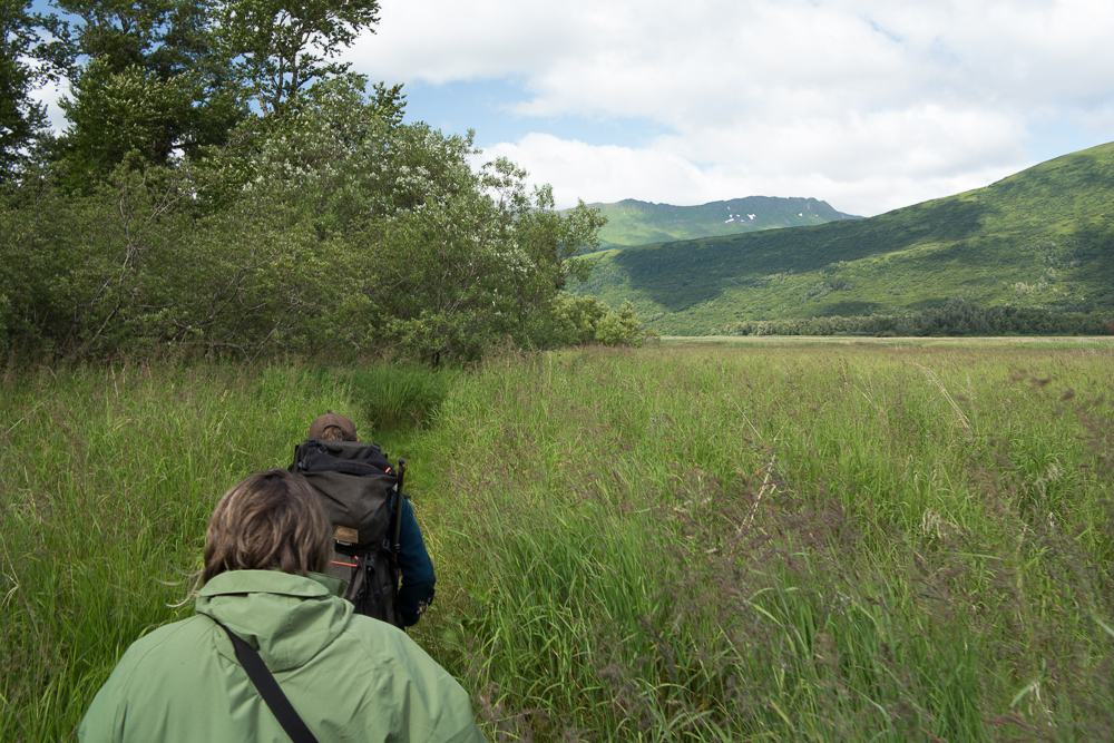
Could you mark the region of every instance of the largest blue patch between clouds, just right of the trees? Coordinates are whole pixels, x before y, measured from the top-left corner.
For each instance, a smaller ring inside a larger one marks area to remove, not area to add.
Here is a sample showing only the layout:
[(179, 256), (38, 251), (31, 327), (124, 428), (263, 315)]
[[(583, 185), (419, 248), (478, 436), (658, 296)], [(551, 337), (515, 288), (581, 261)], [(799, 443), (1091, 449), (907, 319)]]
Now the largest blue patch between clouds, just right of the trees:
[(473, 80), (428, 85), (408, 82), (405, 120), (426, 121), (446, 134), (476, 130), (480, 148), (515, 143), (531, 133), (587, 145), (642, 147), (655, 137), (670, 134), (667, 127), (646, 118), (592, 118), (586, 116), (524, 116), (514, 111), (530, 95), (510, 79)]

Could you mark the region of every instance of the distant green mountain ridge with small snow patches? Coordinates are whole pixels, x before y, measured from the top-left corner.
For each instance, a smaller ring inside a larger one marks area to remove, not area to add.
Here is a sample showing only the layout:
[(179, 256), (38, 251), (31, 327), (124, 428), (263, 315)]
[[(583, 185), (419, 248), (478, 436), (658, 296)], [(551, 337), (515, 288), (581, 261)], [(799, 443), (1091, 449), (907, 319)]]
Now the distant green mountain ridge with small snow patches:
[(607, 225), (599, 232), (604, 247), (737, 235), (858, 218), (837, 212), (827, 202), (814, 198), (770, 196), (749, 196), (701, 206), (652, 204), (633, 198), (592, 206), (607, 217)]

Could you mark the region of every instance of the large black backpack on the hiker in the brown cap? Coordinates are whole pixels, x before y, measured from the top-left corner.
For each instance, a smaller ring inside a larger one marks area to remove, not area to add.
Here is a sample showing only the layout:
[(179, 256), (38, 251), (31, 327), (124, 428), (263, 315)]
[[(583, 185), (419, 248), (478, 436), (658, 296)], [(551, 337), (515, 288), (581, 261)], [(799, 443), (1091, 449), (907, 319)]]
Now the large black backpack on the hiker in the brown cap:
[[(405, 460), (391, 466), (378, 443), (307, 439), (294, 449), (290, 471), (321, 497), (333, 526), (329, 574), (349, 581), (344, 598), (365, 614), (402, 626), (399, 614), (399, 547)], [(397, 500), (395, 502), (401, 502)]]

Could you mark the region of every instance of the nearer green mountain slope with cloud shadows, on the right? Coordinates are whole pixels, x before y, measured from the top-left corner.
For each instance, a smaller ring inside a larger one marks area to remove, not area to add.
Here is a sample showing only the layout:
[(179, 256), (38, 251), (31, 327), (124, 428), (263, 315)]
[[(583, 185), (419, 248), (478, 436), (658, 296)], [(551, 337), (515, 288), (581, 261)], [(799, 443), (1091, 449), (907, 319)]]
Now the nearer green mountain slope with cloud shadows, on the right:
[(663, 334), (742, 320), (899, 314), (960, 297), (1114, 310), (1114, 143), (869, 219), (615, 248), (574, 291)]

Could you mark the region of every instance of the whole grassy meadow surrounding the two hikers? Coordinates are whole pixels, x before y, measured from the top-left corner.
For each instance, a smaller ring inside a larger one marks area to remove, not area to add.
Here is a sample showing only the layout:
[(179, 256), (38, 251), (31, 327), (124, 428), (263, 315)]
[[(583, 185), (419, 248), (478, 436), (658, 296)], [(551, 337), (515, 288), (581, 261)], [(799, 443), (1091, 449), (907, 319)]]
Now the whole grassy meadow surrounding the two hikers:
[(0, 740), (72, 739), (127, 645), (189, 615), (216, 499), (326, 407), (409, 460), (438, 569), (411, 635), (492, 741), (1110, 740), (1112, 362), (763, 343), (10, 368)]

